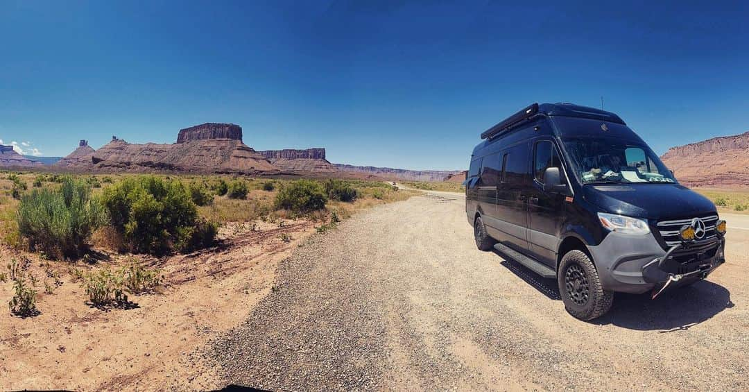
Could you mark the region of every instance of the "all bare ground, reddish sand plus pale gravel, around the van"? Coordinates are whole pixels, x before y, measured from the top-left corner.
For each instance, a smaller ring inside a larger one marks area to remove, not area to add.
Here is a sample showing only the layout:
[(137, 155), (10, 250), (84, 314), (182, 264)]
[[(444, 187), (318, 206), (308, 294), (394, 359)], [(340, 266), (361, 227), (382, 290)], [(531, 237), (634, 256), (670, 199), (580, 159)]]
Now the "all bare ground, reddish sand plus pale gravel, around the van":
[(39, 316), (0, 317), (0, 390), (747, 391), (749, 222), (724, 217), (709, 280), (616, 295), (595, 322), (568, 316), (554, 280), (476, 250), (459, 193), (324, 235), (225, 229), (225, 247), (151, 261), (170, 284), (135, 309), (88, 307), (65, 277)]

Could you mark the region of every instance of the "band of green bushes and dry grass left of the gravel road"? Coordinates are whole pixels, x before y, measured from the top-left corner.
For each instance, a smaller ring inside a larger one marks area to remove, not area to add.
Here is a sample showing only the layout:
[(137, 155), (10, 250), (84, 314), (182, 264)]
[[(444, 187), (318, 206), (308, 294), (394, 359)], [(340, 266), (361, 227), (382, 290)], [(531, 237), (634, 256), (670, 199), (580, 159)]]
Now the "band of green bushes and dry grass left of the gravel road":
[(276, 227), (274, 241), (287, 244), (290, 223), (324, 233), (363, 208), (416, 194), (382, 181), (0, 172), (0, 250), (14, 255), (0, 268), (0, 289), (7, 285), (4, 301), (19, 317), (40, 314), (40, 301), (64, 282), (79, 285), (91, 307), (128, 309), (134, 296), (169, 285), (139, 259), (213, 247), (227, 241), (222, 227), (234, 235)]

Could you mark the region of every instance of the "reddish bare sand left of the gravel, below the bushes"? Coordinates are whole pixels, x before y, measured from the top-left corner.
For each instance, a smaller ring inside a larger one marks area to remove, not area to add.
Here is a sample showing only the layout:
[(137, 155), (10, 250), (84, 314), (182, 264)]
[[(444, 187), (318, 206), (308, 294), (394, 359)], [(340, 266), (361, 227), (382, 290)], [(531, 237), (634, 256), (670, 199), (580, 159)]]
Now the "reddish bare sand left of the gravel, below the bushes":
[[(225, 244), (202, 253), (154, 259), (168, 285), (161, 294), (130, 296), (137, 307), (103, 311), (63, 273), (63, 284), (40, 298), (41, 314), (0, 317), (0, 391), (207, 390), (222, 387), (201, 347), (239, 324), (272, 289), (276, 265), (315, 232), (311, 222), (258, 222), (222, 229)], [(287, 233), (292, 241), (279, 239)], [(4, 255), (4, 261), (10, 256)], [(31, 265), (29, 271), (39, 268)], [(2, 266), (4, 268), (4, 265)], [(10, 298), (10, 283), (0, 298)], [(4, 304), (2, 304), (4, 306)]]

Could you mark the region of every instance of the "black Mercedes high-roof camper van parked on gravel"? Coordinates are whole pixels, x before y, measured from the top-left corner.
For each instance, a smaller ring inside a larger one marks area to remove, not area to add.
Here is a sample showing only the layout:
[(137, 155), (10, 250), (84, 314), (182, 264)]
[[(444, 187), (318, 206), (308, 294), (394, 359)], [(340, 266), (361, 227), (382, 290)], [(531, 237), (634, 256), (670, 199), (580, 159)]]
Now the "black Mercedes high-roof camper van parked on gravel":
[(533, 103), (481, 137), (464, 183), (476, 246), (556, 278), (572, 316), (603, 315), (613, 292), (655, 298), (725, 262), (715, 205), (618, 115)]

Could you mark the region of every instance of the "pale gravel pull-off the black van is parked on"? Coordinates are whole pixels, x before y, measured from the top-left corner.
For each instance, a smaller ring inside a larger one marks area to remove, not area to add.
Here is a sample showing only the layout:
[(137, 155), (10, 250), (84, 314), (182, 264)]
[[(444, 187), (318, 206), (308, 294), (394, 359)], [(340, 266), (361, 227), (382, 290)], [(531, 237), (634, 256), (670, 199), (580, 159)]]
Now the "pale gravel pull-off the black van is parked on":
[(464, 199), (430, 193), (317, 235), (212, 343), (227, 384), (288, 390), (749, 390), (749, 232), (710, 280), (595, 322), (554, 280), (476, 250)]

